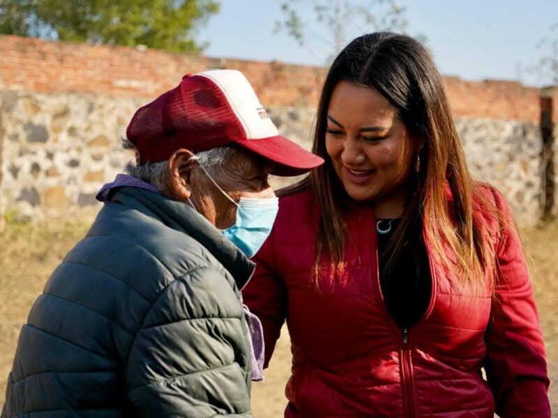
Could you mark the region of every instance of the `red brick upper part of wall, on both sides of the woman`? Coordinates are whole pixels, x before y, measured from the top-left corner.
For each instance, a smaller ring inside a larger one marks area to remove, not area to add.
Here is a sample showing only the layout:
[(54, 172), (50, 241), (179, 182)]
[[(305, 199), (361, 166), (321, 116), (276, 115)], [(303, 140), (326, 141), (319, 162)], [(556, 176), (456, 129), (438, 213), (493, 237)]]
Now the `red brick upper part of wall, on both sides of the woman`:
[[(324, 68), (278, 62), (0, 37), (0, 87), (38, 93), (154, 98), (178, 84), (186, 72), (216, 67), (244, 72), (262, 103), (269, 107), (315, 106), (325, 75)], [(539, 121), (538, 88), (455, 77), (446, 77), (445, 83), (455, 116)]]

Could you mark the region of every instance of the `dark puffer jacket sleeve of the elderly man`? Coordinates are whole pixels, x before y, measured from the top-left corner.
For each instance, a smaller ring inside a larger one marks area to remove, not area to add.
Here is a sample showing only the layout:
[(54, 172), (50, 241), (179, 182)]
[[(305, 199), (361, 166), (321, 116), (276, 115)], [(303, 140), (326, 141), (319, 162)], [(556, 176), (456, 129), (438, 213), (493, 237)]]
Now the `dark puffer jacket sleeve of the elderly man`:
[(126, 365), (130, 415), (252, 417), (240, 295), (222, 272), (189, 274), (160, 293), (135, 336)]

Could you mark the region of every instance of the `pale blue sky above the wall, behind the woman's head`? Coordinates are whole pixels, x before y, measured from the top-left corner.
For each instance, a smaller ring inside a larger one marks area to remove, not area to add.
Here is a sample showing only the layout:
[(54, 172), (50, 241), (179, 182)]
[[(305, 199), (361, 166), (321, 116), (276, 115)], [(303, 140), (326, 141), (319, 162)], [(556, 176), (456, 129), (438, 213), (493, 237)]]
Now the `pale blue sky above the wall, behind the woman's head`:
[[(331, 0), (330, 0), (331, 1)], [(275, 33), (281, 20), (280, 0), (222, 0), (197, 38), (209, 42), (204, 54), (258, 61), (324, 65), (334, 46), (331, 30), (313, 20), (312, 0), (299, 0), (308, 34), (300, 46), (286, 31)], [(360, 1), (368, 3), (368, 1)], [(550, 79), (537, 70), (550, 47), (540, 46), (558, 24), (558, 0), (396, 0), (405, 7), (407, 33), (425, 36), (438, 68), (462, 79), (514, 79), (543, 86)], [(346, 22), (350, 38), (371, 31)], [(347, 40), (350, 40), (347, 39)]]

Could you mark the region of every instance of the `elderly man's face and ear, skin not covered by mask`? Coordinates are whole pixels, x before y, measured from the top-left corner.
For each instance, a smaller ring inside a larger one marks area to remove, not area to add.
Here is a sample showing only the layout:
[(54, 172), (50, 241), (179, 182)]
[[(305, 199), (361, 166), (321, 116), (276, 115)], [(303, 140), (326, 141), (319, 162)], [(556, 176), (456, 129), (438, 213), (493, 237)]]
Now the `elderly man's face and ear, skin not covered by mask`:
[[(169, 158), (171, 178), (165, 194), (172, 199), (190, 199), (195, 208), (218, 229), (227, 229), (236, 220), (236, 205), (213, 184), (209, 176), (192, 162), (188, 150), (178, 150)], [(229, 161), (211, 177), (234, 201), (241, 197), (266, 199), (275, 193), (269, 186), (268, 176), (271, 163), (238, 149)]]

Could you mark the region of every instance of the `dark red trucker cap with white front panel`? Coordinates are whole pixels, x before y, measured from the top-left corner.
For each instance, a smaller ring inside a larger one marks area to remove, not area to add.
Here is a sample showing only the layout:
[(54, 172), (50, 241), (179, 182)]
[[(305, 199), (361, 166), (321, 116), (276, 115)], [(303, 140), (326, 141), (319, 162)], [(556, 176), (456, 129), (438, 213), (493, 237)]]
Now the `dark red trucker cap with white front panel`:
[(167, 160), (179, 148), (193, 153), (236, 144), (273, 162), (272, 173), (296, 176), (324, 160), (282, 137), (244, 75), (210, 70), (185, 75), (178, 86), (138, 109), (128, 140), (138, 164)]

